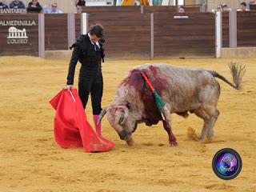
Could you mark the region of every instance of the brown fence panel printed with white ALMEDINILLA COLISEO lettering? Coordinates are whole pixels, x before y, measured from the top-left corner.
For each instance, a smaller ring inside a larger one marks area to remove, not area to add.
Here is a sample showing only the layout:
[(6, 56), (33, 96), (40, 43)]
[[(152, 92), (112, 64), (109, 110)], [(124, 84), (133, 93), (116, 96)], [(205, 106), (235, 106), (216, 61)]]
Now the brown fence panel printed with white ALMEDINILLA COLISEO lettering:
[(0, 55), (39, 53), (38, 14), (0, 14)]

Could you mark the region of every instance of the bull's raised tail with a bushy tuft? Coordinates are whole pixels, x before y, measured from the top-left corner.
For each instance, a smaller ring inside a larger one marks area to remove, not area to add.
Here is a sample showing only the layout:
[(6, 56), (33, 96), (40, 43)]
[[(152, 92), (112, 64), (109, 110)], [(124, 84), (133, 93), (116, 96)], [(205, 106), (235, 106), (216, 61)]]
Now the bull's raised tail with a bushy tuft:
[(218, 74), (218, 72), (214, 70), (208, 70), (208, 72), (212, 74), (214, 78), (220, 78), (223, 82), (226, 82), (230, 86), (234, 87), (234, 89), (240, 90), (242, 84), (242, 77), (246, 73), (246, 66), (238, 65), (236, 62), (230, 62), (229, 67), (234, 83), (230, 82), (224, 76)]

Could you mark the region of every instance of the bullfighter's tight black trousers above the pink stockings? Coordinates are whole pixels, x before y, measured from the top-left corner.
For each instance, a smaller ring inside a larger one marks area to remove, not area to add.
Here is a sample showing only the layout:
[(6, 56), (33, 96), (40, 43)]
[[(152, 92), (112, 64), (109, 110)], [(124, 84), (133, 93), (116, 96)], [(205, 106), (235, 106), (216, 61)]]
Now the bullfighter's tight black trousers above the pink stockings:
[(103, 78), (102, 69), (98, 67), (81, 66), (78, 80), (78, 94), (85, 109), (90, 94), (93, 114), (102, 111)]

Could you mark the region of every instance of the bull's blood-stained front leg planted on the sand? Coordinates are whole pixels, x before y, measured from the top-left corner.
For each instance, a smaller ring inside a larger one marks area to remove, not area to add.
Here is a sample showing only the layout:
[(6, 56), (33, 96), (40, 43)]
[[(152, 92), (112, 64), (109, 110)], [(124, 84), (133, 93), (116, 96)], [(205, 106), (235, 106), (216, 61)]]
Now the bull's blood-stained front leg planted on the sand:
[(162, 120), (162, 124), (163, 124), (163, 127), (165, 128), (165, 130), (168, 133), (170, 146), (178, 146), (178, 142), (176, 142), (176, 138), (174, 137), (174, 134), (171, 130), (170, 110), (166, 109), (166, 107), (165, 107), (163, 114), (164, 114), (166, 119)]

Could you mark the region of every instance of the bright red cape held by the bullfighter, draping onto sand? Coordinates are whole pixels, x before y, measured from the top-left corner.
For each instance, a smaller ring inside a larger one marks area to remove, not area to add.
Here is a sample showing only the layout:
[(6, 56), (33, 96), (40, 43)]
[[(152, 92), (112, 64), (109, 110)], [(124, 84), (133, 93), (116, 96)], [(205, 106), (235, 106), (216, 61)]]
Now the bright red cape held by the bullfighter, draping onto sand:
[(56, 110), (54, 138), (59, 146), (83, 147), (86, 152), (112, 150), (114, 142), (98, 137), (91, 128), (76, 89), (61, 90), (50, 104)]

